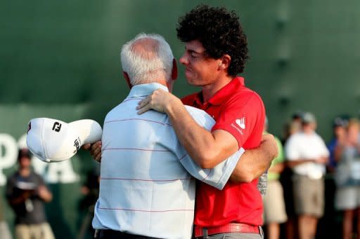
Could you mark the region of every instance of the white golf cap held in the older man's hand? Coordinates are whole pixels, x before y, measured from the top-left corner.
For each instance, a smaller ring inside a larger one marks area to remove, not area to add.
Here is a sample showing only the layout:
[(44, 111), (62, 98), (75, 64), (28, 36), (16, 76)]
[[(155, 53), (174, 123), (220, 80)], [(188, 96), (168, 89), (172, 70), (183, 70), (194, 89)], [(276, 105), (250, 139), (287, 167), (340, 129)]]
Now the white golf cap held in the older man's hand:
[(53, 118), (29, 121), (26, 143), (41, 161), (64, 161), (77, 153), (83, 144), (101, 140), (103, 130), (89, 119), (65, 123)]

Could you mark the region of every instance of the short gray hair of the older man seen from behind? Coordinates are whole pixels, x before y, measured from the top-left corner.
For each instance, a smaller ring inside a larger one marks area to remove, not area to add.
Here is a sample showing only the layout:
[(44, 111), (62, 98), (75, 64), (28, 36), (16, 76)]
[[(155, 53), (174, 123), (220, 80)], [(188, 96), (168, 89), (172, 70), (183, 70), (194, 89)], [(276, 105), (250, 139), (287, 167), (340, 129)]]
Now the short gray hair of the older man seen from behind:
[(169, 43), (159, 34), (138, 34), (122, 46), (120, 53), (123, 71), (131, 85), (172, 80), (174, 55)]

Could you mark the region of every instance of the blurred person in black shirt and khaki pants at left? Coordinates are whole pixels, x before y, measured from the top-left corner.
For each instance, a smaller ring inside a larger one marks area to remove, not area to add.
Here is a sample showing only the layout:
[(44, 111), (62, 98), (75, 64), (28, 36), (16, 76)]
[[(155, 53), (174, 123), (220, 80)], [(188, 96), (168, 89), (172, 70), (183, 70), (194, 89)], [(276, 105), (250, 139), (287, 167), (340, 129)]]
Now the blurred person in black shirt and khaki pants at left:
[(31, 157), (28, 149), (19, 150), (18, 170), (6, 184), (6, 199), (15, 212), (15, 238), (53, 239), (44, 210), (44, 202), (53, 196), (41, 176), (32, 171)]

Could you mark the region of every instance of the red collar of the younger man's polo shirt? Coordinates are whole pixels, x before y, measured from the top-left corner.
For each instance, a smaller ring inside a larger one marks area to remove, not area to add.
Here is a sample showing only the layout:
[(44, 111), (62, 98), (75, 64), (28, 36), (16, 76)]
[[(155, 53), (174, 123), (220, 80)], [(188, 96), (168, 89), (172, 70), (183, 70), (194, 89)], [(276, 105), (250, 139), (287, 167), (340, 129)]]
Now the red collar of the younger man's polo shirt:
[[(244, 83), (244, 78), (243, 77), (236, 77), (233, 78), (226, 86), (224, 86), (223, 88), (221, 88), (217, 93), (215, 93), (215, 95), (213, 95), (208, 104), (212, 104), (212, 105), (219, 105), (222, 102), (224, 102), (224, 100), (228, 99), (231, 95), (233, 95), (233, 93), (240, 87), (245, 86)], [(203, 102), (203, 93), (200, 92), (196, 95), (194, 102), (196, 102), (199, 105), (203, 105), (206, 104), (207, 102)]]

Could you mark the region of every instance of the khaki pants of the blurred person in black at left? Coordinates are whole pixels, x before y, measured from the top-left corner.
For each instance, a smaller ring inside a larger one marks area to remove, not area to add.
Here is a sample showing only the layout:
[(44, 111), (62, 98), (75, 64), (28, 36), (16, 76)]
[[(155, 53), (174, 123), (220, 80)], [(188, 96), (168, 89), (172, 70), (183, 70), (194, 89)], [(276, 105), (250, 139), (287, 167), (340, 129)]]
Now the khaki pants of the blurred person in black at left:
[(16, 239), (54, 239), (53, 231), (47, 222), (42, 224), (15, 225)]

